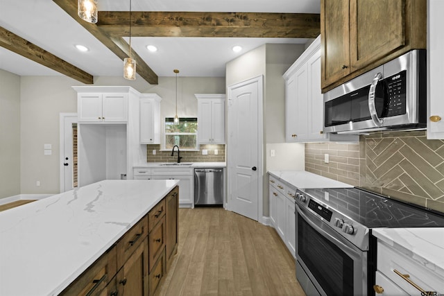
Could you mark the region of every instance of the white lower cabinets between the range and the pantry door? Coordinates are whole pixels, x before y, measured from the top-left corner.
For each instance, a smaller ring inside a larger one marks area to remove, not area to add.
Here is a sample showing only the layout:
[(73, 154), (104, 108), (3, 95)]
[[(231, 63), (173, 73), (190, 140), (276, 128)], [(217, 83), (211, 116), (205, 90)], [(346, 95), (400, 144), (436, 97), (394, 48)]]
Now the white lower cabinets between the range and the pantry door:
[(271, 225), (296, 258), (296, 218), (293, 199), (296, 189), (273, 176), (269, 176), (268, 180)]

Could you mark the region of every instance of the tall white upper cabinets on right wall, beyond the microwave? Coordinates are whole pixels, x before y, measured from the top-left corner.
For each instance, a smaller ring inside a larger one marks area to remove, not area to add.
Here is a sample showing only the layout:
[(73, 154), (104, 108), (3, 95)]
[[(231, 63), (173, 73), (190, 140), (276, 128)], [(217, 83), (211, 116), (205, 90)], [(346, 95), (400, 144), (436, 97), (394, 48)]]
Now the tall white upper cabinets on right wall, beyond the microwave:
[(284, 73), (285, 139), (287, 142), (359, 141), (356, 135), (323, 132), (321, 36)]

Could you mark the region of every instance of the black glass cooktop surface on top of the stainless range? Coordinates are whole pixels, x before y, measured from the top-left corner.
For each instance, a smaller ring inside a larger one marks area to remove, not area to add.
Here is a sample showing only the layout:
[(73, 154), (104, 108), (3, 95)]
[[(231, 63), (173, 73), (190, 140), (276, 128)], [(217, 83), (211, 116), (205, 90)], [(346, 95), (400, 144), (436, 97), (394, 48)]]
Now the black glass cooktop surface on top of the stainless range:
[(444, 215), (362, 189), (301, 190), (368, 228), (444, 227)]

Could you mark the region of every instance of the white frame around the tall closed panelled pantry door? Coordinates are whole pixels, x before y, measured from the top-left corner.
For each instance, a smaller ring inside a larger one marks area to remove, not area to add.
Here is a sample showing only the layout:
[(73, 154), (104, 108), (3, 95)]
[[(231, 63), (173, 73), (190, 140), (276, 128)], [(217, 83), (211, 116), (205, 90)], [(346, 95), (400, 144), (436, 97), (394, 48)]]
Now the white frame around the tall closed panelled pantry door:
[(232, 182), (231, 182), (231, 157), (230, 157), (230, 103), (232, 89), (242, 87), (244, 85), (249, 85), (251, 83), (257, 82), (257, 220), (259, 223), (267, 224), (268, 217), (264, 216), (264, 76), (259, 75), (253, 78), (244, 80), (242, 82), (237, 82), (227, 87), (227, 205), (226, 209), (232, 211)]

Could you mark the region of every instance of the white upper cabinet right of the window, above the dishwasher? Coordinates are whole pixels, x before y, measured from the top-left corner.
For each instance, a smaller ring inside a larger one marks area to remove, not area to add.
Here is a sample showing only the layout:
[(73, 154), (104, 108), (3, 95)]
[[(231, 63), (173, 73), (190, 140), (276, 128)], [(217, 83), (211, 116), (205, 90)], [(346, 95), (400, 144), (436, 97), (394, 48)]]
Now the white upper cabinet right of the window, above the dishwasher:
[(198, 141), (225, 143), (225, 94), (194, 94), (198, 99)]

